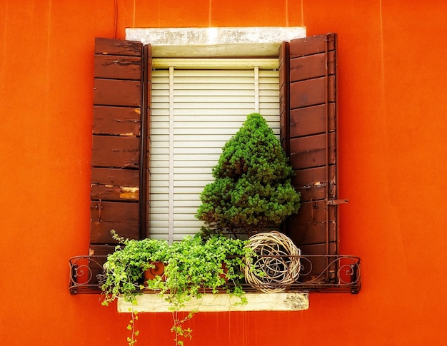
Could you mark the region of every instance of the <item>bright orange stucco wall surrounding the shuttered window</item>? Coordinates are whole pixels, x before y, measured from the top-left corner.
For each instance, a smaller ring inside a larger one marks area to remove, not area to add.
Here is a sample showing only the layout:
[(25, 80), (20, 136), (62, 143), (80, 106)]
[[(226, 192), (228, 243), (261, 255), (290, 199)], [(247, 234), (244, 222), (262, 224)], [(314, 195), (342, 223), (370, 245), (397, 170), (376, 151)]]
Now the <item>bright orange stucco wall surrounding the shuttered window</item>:
[[(92, 52), (167, 26), (338, 33), (341, 250), (363, 270), (359, 295), (307, 311), (199, 313), (187, 345), (446, 345), (444, 0), (0, 1), (0, 344), (126, 345), (128, 314), (67, 289), (89, 241)], [(141, 315), (138, 345), (173, 345), (170, 322)]]

